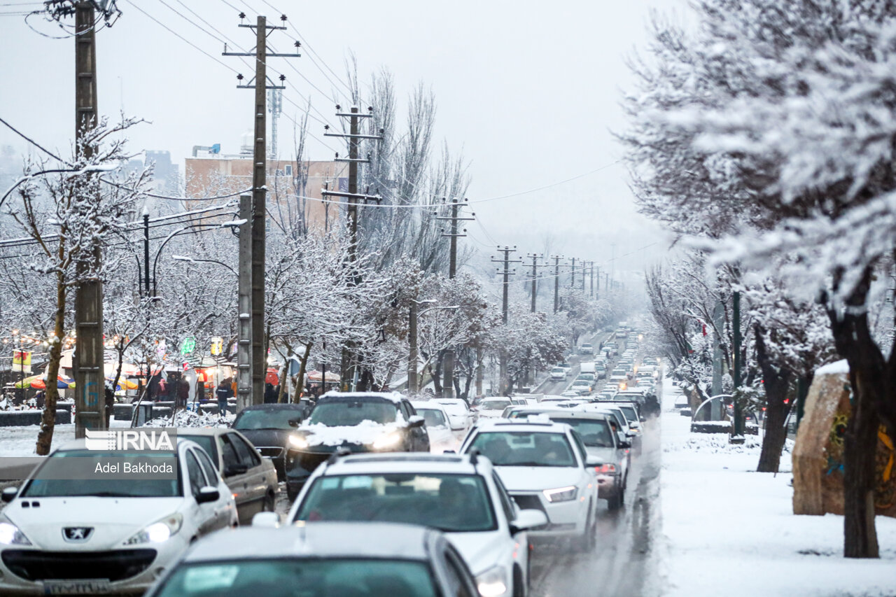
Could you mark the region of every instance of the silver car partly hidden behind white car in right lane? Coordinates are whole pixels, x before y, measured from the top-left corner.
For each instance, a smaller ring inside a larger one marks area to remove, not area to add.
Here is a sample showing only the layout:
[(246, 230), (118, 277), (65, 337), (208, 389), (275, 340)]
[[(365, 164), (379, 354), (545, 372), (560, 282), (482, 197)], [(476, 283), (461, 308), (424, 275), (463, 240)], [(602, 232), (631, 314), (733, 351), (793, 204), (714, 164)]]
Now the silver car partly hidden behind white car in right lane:
[(575, 429), (588, 455), (597, 458), (595, 465), (599, 497), (607, 500), (610, 510), (625, 504), (625, 487), (628, 484), (629, 444), (620, 442), (610, 425), (610, 415), (599, 412), (552, 412), (550, 420), (565, 423)]

